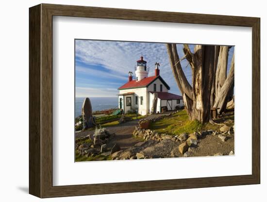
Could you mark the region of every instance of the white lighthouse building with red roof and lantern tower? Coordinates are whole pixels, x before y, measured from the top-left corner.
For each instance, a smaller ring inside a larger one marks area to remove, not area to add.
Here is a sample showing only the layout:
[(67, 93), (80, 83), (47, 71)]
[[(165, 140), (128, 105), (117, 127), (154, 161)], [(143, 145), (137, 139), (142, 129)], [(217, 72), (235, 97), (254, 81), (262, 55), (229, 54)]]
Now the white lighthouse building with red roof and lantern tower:
[(153, 105), (154, 93), (157, 93), (158, 96), (157, 113), (172, 111), (177, 106), (184, 106), (182, 96), (168, 92), (170, 87), (160, 76), (159, 63), (156, 63), (155, 66), (155, 75), (148, 77), (149, 67), (141, 56), (135, 67), (136, 79), (133, 80), (133, 73), (130, 71), (128, 82), (118, 88), (118, 107), (123, 109), (123, 113), (138, 110), (138, 114), (149, 114)]

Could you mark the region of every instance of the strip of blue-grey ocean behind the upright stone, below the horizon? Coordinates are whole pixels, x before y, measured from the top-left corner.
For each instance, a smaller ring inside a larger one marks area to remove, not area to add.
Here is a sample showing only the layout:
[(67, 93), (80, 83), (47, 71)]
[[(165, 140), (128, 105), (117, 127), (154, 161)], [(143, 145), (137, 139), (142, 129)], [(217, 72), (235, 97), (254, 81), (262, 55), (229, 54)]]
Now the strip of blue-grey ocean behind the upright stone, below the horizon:
[[(82, 105), (85, 98), (75, 98), (75, 117), (82, 115)], [(89, 98), (93, 111), (118, 107), (118, 98)]]

